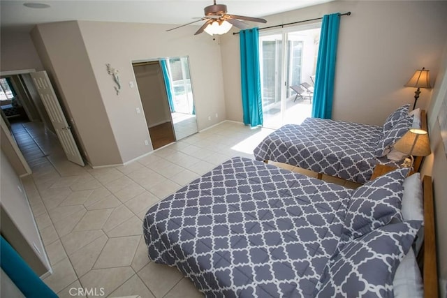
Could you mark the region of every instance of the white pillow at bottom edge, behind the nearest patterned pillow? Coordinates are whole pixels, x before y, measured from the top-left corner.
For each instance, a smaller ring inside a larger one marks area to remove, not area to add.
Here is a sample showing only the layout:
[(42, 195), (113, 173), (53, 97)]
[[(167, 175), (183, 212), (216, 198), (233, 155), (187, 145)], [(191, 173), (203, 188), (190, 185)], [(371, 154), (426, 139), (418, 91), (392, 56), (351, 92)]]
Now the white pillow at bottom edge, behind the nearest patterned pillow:
[(397, 267), (393, 292), (395, 298), (423, 297), (423, 281), (413, 250), (410, 249)]

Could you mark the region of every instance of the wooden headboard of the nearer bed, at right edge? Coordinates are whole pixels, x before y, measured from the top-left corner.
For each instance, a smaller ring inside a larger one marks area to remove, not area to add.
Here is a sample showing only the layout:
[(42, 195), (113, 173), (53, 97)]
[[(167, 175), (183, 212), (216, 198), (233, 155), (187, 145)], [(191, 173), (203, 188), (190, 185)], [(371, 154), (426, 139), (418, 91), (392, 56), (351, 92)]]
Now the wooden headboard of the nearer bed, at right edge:
[(424, 190), (424, 243), (418, 255), (424, 283), (424, 297), (439, 297), (436, 230), (434, 223), (434, 198), (432, 177), (423, 178)]

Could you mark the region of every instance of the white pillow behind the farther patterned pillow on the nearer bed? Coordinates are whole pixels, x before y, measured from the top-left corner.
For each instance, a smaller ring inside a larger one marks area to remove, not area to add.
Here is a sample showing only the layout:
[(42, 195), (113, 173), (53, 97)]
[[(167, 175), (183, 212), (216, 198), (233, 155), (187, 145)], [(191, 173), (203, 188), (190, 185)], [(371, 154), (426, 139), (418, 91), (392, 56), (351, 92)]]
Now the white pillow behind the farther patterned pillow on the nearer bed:
[(404, 221), (423, 221), (423, 190), (420, 173), (416, 172), (404, 180), (404, 195), (402, 195), (402, 217)]

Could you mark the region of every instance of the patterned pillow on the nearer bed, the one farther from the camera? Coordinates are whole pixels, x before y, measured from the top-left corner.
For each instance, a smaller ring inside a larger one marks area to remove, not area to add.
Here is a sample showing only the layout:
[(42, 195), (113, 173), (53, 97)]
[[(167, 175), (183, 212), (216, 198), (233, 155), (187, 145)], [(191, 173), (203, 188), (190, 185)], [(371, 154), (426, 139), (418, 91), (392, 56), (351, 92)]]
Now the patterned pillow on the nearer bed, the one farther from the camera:
[(397, 169), (363, 184), (351, 195), (344, 218), (342, 241), (388, 225), (393, 218), (402, 221), (401, 207), (404, 179), (408, 168)]

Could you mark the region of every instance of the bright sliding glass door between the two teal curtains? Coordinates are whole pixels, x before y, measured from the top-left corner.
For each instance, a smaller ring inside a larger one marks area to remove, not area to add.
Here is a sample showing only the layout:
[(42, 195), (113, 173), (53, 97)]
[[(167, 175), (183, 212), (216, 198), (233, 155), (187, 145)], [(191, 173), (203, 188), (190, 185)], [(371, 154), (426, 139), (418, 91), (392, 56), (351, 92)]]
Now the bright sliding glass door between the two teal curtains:
[[(321, 23), (318, 23), (260, 33), (259, 59), (265, 127), (300, 124), (311, 116), (320, 28)], [(295, 87), (298, 92), (291, 87)]]

